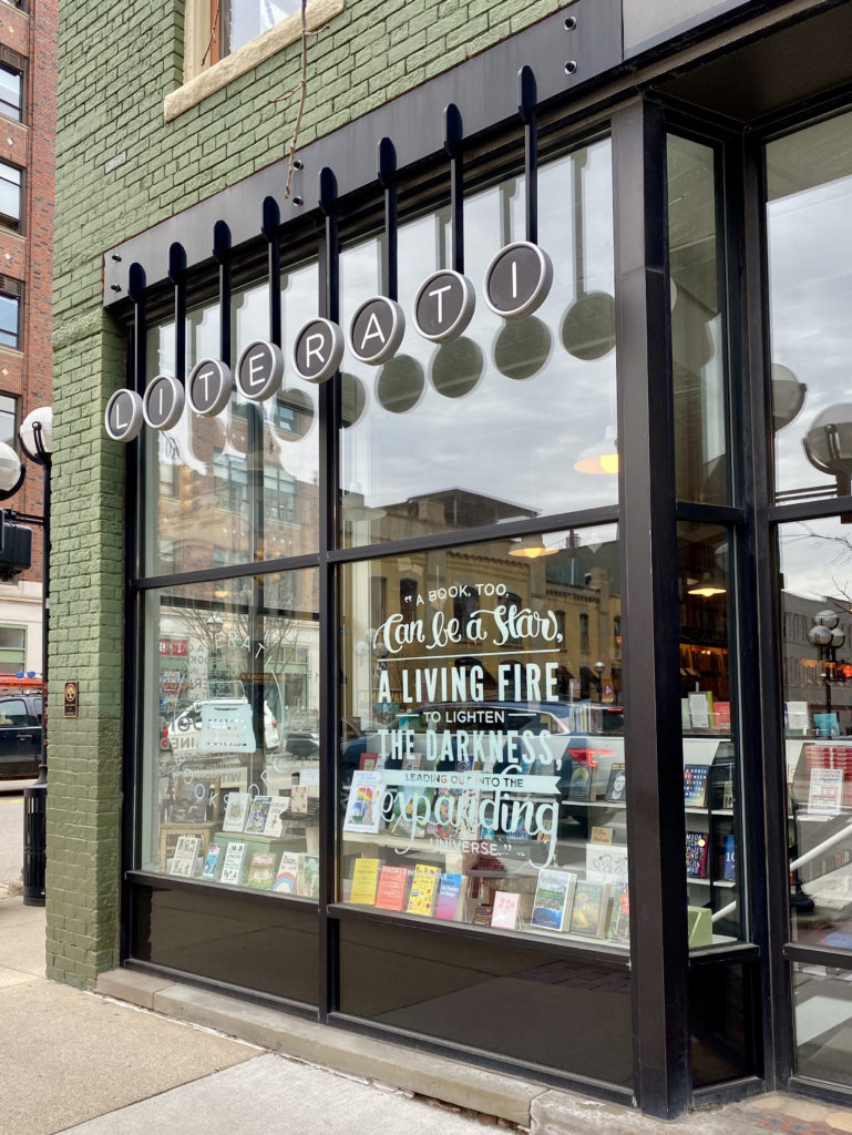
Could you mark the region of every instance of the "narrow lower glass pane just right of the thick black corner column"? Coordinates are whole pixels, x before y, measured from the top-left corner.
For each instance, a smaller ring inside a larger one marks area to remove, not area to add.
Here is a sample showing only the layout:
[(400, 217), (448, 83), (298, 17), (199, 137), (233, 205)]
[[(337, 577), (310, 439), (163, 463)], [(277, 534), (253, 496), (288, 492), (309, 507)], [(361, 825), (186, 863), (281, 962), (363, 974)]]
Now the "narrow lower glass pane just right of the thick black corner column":
[(744, 933), (742, 825), (728, 642), (729, 536), (677, 526), (681, 721), (690, 947)]

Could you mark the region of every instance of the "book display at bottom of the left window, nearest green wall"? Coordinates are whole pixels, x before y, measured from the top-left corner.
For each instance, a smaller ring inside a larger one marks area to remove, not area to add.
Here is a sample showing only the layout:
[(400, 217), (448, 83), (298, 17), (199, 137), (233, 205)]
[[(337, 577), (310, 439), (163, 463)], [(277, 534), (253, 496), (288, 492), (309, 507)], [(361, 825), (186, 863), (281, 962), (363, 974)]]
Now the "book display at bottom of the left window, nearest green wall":
[(220, 815), (160, 826), (160, 869), (225, 886), (319, 896), (319, 794), (227, 792)]

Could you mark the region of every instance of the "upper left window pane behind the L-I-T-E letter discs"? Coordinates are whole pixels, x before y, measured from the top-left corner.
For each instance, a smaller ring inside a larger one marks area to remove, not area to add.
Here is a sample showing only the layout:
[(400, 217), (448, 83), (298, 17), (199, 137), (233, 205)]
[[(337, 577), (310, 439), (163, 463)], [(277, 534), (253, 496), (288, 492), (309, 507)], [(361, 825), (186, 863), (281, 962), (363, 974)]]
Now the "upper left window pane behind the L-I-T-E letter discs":
[[(281, 277), (284, 350), (288, 335), (317, 313), (317, 264)], [(187, 375), (201, 359), (219, 358), (219, 305), (187, 314)], [(233, 365), (253, 339), (269, 337), (269, 291), (235, 293)], [(175, 326), (147, 337), (147, 376), (174, 375)], [(187, 407), (166, 432), (145, 429), (149, 574), (196, 571), (317, 550), (319, 445), (317, 390), (285, 368), (281, 390), (267, 402), (234, 394), (214, 418)], [(157, 478), (159, 485), (154, 482)]]

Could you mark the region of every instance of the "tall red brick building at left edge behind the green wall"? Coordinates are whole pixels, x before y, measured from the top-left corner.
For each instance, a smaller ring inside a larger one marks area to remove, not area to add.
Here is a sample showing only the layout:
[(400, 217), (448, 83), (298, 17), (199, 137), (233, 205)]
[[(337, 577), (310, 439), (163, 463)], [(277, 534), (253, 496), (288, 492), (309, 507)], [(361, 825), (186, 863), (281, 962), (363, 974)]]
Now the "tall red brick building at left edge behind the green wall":
[[(51, 279), (58, 0), (0, 0), (0, 440), (51, 402)], [(27, 462), (16, 512), (42, 511)], [(0, 583), (0, 674), (41, 672), (42, 533), (32, 570)]]

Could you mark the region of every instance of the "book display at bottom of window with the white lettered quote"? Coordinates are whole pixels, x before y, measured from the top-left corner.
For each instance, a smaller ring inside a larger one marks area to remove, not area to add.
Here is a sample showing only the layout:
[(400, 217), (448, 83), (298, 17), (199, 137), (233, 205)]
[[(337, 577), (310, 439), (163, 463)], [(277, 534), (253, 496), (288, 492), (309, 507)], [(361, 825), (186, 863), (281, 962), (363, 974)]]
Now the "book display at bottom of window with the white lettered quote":
[[(623, 766), (617, 775), (621, 794)], [(473, 787), (453, 789), (423, 785), (439, 779), (428, 773), (413, 773), (407, 785), (405, 779), (387, 770), (353, 773), (343, 822), (345, 903), (627, 949), (622, 799), (576, 801), (579, 809), (571, 800), (572, 812), (596, 808), (590, 823), (568, 815), (558, 789), (555, 797), (507, 790), (524, 781), (540, 787), (535, 777), (495, 775), (490, 792), (479, 773), (455, 773), (454, 782)]]

